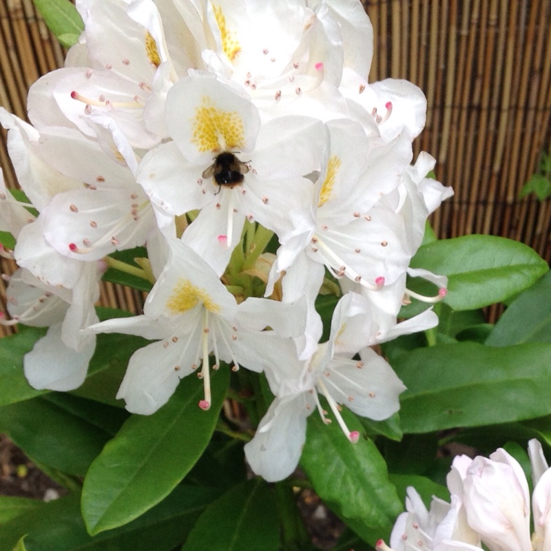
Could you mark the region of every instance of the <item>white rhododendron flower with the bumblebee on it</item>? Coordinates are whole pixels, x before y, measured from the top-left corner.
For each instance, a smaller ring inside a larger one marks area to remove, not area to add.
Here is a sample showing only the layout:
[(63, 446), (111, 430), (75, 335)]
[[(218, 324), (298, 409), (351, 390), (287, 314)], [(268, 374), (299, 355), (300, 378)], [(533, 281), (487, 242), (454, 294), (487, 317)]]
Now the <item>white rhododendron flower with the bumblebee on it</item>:
[(285, 240), (313, 224), (306, 202), (324, 138), (313, 118), (286, 117), (260, 125), (249, 99), (214, 76), (178, 81), (167, 98), (174, 141), (145, 156), (138, 181), (153, 202), (176, 216), (200, 213), (183, 240), (220, 273), (245, 220)]

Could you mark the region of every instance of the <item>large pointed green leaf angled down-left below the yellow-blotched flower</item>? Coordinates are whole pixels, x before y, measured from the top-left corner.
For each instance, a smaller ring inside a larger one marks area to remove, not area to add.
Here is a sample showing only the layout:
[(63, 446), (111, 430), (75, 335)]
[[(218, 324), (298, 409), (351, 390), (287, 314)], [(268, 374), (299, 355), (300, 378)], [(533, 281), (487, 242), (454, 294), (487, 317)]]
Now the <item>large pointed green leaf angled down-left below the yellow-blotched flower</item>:
[(160, 410), (125, 422), (84, 480), (82, 512), (90, 534), (136, 519), (185, 477), (209, 444), (228, 382), (226, 369), (212, 377), (211, 408), (203, 411), (197, 405), (202, 384), (185, 377)]

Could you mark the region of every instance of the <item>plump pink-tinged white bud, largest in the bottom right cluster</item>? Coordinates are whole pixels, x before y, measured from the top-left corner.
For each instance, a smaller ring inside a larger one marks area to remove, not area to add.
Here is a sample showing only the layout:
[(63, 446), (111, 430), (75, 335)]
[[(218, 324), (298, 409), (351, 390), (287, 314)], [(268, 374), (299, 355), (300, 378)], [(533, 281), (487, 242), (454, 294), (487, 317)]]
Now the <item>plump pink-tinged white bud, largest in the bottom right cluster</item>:
[(530, 498), (521, 466), (501, 448), (476, 457), (464, 479), (469, 526), (490, 551), (531, 551)]

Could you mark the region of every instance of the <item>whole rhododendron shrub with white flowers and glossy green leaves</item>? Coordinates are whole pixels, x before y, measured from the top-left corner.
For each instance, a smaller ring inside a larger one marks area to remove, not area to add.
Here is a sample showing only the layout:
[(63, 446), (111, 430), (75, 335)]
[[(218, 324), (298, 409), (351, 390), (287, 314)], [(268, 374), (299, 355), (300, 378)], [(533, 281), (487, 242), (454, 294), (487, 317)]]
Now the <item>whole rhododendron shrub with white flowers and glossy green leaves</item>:
[[(413, 157), (426, 100), (368, 81), (359, 1), (41, 6), (71, 48), (30, 122), (0, 108), (21, 187), (1, 181), (17, 271), (0, 322), (18, 330), (0, 428), (69, 492), (25, 501), (3, 547), (315, 549), (308, 488), (347, 527), (335, 549), (360, 550), (388, 539), (406, 486), (445, 495), (446, 441), (486, 448), (497, 425), (504, 445), (514, 423), (524, 444), (551, 414), (547, 265), (502, 238), (437, 240), (453, 190)], [(102, 280), (143, 311), (97, 307)], [(453, 517), (441, 537), (490, 548), (468, 480), (430, 513), (408, 490), (402, 535), (435, 544)]]

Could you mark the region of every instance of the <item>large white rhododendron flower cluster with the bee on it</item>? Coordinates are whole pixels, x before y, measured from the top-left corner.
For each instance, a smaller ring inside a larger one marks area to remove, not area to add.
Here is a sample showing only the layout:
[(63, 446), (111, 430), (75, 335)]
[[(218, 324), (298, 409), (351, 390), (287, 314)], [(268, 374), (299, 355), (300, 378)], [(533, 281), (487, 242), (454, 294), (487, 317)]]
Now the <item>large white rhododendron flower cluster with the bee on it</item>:
[[(293, 472), (315, 410), (357, 441), (342, 405), (386, 419), (405, 388), (371, 346), (435, 326), (430, 308), (406, 322), (399, 309), (446, 294), (446, 278), (409, 268), (452, 194), (427, 177), (430, 155), (412, 164), (424, 95), (368, 82), (359, 1), (76, 8), (85, 30), (32, 85), (31, 124), (0, 110), (28, 198), (0, 195), (0, 229), (17, 239), (3, 254), (19, 265), (3, 322), (50, 328), (25, 356), (28, 381), (77, 388), (97, 333), (141, 335), (152, 343), (117, 394), (133, 413), (154, 413), (194, 373), (202, 409), (212, 369), (265, 374), (275, 398), (245, 453), (267, 480)], [(134, 273), (153, 283), (143, 314), (99, 322), (110, 255), (138, 246)], [(434, 296), (410, 291), (408, 274)], [(320, 291), (340, 297), (332, 321)]]

